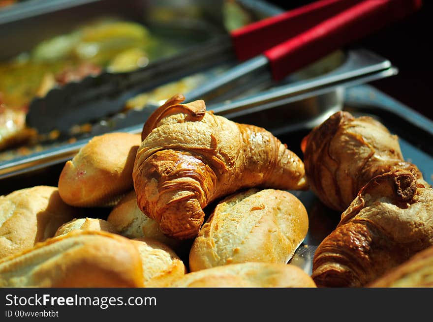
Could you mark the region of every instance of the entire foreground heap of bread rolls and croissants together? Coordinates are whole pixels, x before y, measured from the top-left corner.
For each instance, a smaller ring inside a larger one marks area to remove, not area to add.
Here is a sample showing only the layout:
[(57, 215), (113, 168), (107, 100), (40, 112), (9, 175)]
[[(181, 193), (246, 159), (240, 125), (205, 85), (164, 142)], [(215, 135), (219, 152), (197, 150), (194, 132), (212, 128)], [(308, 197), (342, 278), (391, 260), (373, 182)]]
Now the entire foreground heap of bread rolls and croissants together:
[[(58, 187), (0, 197), (1, 287), (431, 281), (433, 191), (383, 125), (339, 112), (304, 139), (303, 161), (265, 129), (183, 101), (167, 100), (140, 135), (94, 137), (65, 163)], [(311, 276), (289, 264), (309, 229), (289, 191), (309, 188), (343, 211)]]

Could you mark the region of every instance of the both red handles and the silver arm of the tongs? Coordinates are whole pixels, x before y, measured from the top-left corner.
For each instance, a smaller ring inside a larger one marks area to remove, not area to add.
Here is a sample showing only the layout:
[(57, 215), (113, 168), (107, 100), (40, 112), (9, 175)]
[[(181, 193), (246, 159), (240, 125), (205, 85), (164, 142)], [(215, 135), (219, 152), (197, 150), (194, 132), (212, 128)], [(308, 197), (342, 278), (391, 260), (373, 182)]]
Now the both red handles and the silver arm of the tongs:
[[(231, 33), (236, 56), (246, 60), (186, 95), (191, 101), (260, 69), (275, 81), (415, 12), (421, 0), (320, 0)], [(265, 48), (265, 50), (263, 50)], [(220, 94), (220, 92), (218, 92)]]

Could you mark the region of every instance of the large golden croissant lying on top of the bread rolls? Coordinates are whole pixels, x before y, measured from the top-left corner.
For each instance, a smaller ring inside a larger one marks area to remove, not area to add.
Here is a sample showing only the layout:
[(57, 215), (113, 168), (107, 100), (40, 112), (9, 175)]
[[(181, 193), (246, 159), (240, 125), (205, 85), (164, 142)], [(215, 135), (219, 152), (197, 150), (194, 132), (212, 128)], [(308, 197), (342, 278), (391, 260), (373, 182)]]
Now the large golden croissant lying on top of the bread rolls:
[(238, 189), (308, 187), (302, 160), (263, 128), (173, 96), (149, 117), (133, 169), (137, 205), (178, 239), (195, 237), (203, 208)]

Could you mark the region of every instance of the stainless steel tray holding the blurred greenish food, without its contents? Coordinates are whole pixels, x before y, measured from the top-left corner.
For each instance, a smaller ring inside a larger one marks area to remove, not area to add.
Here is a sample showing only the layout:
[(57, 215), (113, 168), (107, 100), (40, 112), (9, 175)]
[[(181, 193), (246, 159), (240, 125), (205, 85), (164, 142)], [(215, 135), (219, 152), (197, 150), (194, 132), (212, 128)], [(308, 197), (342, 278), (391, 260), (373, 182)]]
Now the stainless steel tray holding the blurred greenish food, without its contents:
[[(204, 38), (216, 39), (217, 35), (225, 36), (226, 34), (220, 17), (222, 2), (188, 0), (180, 4), (174, 0), (130, 0), (122, 1), (122, 3), (113, 0), (82, 0), (72, 5), (71, 1), (51, 0), (39, 9), (22, 10), (21, 13), (18, 11), (14, 15), (10, 13), (0, 15), (0, 36), (14, 38), (10, 39), (13, 46), (8, 47), (8, 50), (13, 53), (6, 51), (1, 55), (12, 55), (21, 51), (20, 46), (23, 46), (23, 40), (30, 37), (27, 31), (32, 24), (34, 24), (32, 34), (35, 36), (26, 43), (26, 46), (37, 43), (40, 40), (38, 37), (46, 36), (43, 32), (45, 29), (54, 32), (53, 24), (57, 23), (59, 17), (64, 21), (62, 26), (70, 29), (70, 24), (77, 24), (80, 21), (86, 21), (89, 17), (109, 13), (120, 14), (129, 19), (141, 19), (149, 26), (157, 26), (158, 29), (164, 30), (173, 29), (170, 21), (173, 21), (172, 18), (175, 15), (177, 25), (193, 30), (193, 34), (196, 34), (197, 26), (199, 26), (198, 29), (205, 34)], [(251, 12), (255, 19), (275, 15), (282, 11), (265, 1), (239, 0), (239, 2)], [(36, 6), (36, 2), (29, 1), (29, 4), (31, 3)], [(38, 5), (41, 6), (40, 3)], [(72, 17), (74, 19), (71, 19)], [(13, 33), (5, 31), (11, 29), (14, 30)], [(178, 29), (182, 28), (178, 27)], [(16, 39), (20, 37), (22, 37), (21, 40), (17, 41)], [(250, 83), (237, 86), (237, 91), (231, 92), (231, 96), (220, 97), (218, 101), (211, 102), (210, 105), (208, 102), (208, 109), (235, 120), (248, 122), (251, 119), (261, 119), (264, 110), (279, 106), (278, 113), (273, 115), (283, 113), (284, 118), (280, 117), (272, 122), (273, 130), (278, 127), (279, 131), (286, 131), (289, 128), (302, 127), (305, 123), (317, 124), (331, 113), (341, 109), (345, 87), (396, 73), (397, 69), (387, 59), (363, 49), (351, 48), (344, 52), (337, 51), (311, 64), (290, 75), (278, 85), (273, 84), (268, 78), (261, 78), (261, 75), (251, 75), (255, 86), (251, 86)], [(0, 179), (32, 173), (38, 169), (61, 164), (72, 158), (78, 149), (94, 135), (110, 131), (138, 133), (151, 112), (152, 109), (144, 112), (129, 112), (133, 114), (132, 118), (125, 118), (121, 113), (95, 124), (90, 133), (79, 137), (75, 143), (68, 143), (67, 138), (63, 138), (42, 146), (42, 151), (0, 161)], [(130, 122), (131, 119), (133, 123)]]

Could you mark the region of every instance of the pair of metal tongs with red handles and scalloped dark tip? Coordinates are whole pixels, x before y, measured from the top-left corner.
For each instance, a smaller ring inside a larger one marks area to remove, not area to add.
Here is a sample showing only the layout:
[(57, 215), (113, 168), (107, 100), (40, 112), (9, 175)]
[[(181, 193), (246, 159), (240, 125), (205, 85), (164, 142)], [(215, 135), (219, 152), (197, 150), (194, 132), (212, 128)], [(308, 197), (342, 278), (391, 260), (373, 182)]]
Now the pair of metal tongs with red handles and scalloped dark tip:
[[(102, 73), (52, 89), (45, 97), (32, 101), (27, 124), (40, 133), (53, 129), (66, 132), (72, 125), (121, 112), (125, 101), (138, 93), (235, 57), (241, 63), (185, 95), (186, 101), (207, 102), (230, 97), (250, 85), (245, 84), (248, 76), (251, 80), (251, 75), (260, 74), (278, 82), (342, 46), (404, 18), (421, 3), (421, 0), (319, 0), (237, 29), (197, 50), (192, 48), (187, 54), (151, 63), (144, 69), (114, 75)], [(315, 86), (317, 82), (312, 82), (300, 89)], [(238, 104), (235, 108), (242, 107)], [(137, 121), (140, 112), (130, 112), (123, 118)], [(230, 112), (227, 106), (216, 111), (227, 112)]]

